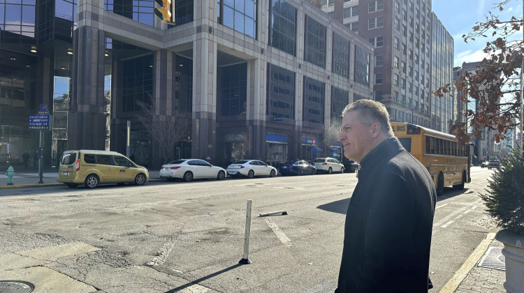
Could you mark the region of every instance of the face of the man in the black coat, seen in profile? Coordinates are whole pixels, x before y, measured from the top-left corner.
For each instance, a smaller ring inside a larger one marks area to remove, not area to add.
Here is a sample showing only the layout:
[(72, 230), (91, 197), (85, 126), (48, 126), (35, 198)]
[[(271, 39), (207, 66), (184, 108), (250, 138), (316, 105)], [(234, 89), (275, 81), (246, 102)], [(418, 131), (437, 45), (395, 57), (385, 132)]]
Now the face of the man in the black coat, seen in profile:
[(358, 111), (350, 111), (342, 118), (338, 141), (344, 145), (344, 156), (360, 162), (372, 149), (372, 127), (358, 119)]

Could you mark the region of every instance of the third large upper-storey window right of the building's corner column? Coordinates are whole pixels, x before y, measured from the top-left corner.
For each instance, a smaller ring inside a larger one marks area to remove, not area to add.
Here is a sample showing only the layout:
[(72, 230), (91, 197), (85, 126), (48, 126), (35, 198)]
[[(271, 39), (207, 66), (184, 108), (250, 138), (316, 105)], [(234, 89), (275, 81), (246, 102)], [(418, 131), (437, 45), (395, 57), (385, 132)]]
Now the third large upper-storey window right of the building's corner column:
[(305, 33), (304, 60), (324, 68), (326, 66), (326, 27), (308, 16), (306, 17)]

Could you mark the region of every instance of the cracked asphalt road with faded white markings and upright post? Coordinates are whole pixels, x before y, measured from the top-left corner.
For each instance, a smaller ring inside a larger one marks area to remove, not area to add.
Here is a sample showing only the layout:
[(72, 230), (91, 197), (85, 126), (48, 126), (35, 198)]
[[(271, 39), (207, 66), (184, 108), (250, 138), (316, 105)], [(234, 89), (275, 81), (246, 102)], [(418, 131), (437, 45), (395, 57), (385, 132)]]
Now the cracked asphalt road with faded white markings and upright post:
[[(438, 198), (430, 292), (495, 230), (479, 198), (492, 172), (473, 167), (465, 190)], [(355, 174), (317, 174), (1, 190), (0, 280), (28, 280), (38, 266), (83, 285), (78, 292), (333, 292), (356, 182)], [(239, 265), (247, 200), (252, 264)], [(259, 217), (271, 211), (288, 215)], [(34, 292), (45, 292), (46, 280)]]

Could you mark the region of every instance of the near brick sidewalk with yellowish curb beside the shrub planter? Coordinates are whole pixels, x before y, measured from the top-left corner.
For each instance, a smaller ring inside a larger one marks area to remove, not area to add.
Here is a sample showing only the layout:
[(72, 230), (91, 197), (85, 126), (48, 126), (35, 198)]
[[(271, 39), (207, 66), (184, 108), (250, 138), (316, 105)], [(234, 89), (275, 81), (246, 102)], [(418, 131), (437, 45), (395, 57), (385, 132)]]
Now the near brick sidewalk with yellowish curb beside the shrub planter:
[(440, 293), (506, 293), (501, 252), (504, 244), (493, 239), (494, 236), (495, 233), (488, 234)]

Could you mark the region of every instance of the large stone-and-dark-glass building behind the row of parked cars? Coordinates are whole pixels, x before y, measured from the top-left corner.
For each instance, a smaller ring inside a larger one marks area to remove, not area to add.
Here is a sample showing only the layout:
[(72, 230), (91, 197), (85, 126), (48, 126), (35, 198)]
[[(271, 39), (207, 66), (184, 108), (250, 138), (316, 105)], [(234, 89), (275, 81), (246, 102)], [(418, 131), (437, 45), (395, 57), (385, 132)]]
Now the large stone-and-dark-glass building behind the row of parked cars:
[(168, 24), (153, 0), (21, 3), (0, 1), (0, 165), (35, 157), (41, 105), (46, 167), (67, 149), (126, 153), (128, 133), (136, 163), (166, 163), (143, 106), (186, 117), (169, 158), (340, 158), (331, 130), (374, 92), (372, 45), (309, 2), (174, 0)]

